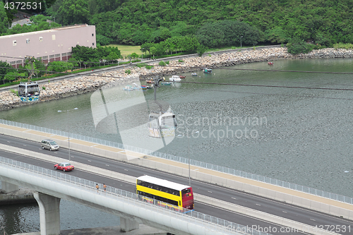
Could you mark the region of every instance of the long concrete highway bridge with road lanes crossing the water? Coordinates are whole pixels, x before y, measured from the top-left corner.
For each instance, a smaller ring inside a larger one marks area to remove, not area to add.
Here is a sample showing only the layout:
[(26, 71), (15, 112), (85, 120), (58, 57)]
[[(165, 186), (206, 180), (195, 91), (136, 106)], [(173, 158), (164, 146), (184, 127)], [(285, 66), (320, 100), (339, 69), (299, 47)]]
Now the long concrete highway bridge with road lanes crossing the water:
[[(48, 133), (39, 133), (38, 131), (30, 131), (23, 128), (16, 128), (13, 126), (1, 125), (0, 124), (1, 133), (6, 133), (7, 135), (2, 135), (0, 138), (1, 148), (0, 156), (6, 157), (8, 159), (14, 159), (16, 161), (24, 162), (27, 164), (31, 164), (33, 166), (42, 167), (42, 169), (53, 169), (53, 163), (59, 162), (62, 159), (67, 159), (68, 153), (65, 149), (61, 149), (57, 152), (49, 152), (42, 150), (40, 148), (39, 140), (41, 138), (50, 138), (57, 140), (57, 142), (61, 146), (65, 146), (66, 138), (62, 136), (54, 136)], [(9, 135), (21, 136), (23, 138), (27, 138), (29, 140), (24, 140), (21, 138), (14, 138)], [(27, 136), (25, 136), (27, 135)], [(37, 139), (36, 139), (37, 138)], [(35, 141), (32, 141), (35, 140)], [(128, 153), (124, 152), (125, 160), (124, 162), (117, 161), (116, 159), (112, 159), (109, 157), (108, 152), (111, 152), (111, 147), (102, 147), (102, 145), (95, 145), (97, 148), (97, 152), (104, 149), (105, 156), (97, 156), (91, 155), (84, 151), (74, 151), (73, 149), (78, 149), (78, 145), (85, 146), (85, 149), (90, 149), (94, 144), (92, 143), (83, 143), (82, 140), (72, 140), (71, 139), (71, 157), (75, 162), (77, 169), (72, 172), (68, 172), (64, 175), (71, 177), (78, 177), (77, 179), (86, 179), (92, 183), (106, 183), (112, 190), (116, 190), (115, 188), (119, 188), (120, 190), (128, 191), (131, 195), (135, 195), (135, 186), (134, 179), (143, 174), (148, 174), (151, 176), (156, 176), (162, 179), (167, 179), (170, 181), (176, 181), (179, 183), (188, 184), (189, 180), (187, 173), (187, 165), (181, 166), (181, 164), (177, 162), (169, 162), (170, 165), (177, 164), (177, 167), (181, 169), (180, 171), (184, 172), (184, 176), (178, 176), (171, 173), (166, 173), (162, 171), (158, 171), (157, 169), (151, 169), (148, 167), (141, 167), (136, 164), (131, 164), (128, 161), (128, 158), (135, 161), (146, 160), (145, 156), (142, 157), (131, 157), (133, 155), (136, 156), (136, 153)], [(67, 145), (67, 143), (66, 143)], [(88, 147), (90, 145), (90, 147)], [(114, 150), (116, 152), (120, 152), (122, 150)], [(93, 151), (94, 152), (94, 151)], [(102, 154), (100, 154), (102, 155)], [(128, 157), (129, 155), (129, 157)], [(132, 161), (132, 162), (133, 162)], [(159, 159), (161, 162), (162, 159)], [(7, 163), (8, 164), (8, 163)], [(5, 167), (4, 169), (7, 169)], [(155, 168), (155, 167), (152, 167)], [(166, 168), (164, 167), (164, 171)], [(167, 171), (172, 171), (171, 167), (167, 169)], [(193, 168), (193, 172), (198, 172), (201, 174), (201, 171), (205, 171), (205, 169), (195, 169)], [(325, 213), (317, 212), (314, 210), (310, 210), (304, 207), (298, 207), (295, 205), (289, 205), (288, 203), (281, 203), (276, 200), (271, 200), (268, 198), (263, 198), (258, 195), (251, 195), (249, 193), (245, 193), (244, 191), (237, 191), (234, 188), (228, 188), (224, 186), (220, 186), (222, 183), (218, 183), (218, 185), (214, 183), (204, 182), (202, 180), (196, 180), (198, 176), (193, 175), (193, 180), (191, 181), (191, 186), (193, 186), (193, 190), (196, 195), (196, 214), (203, 215), (203, 217), (207, 218), (217, 218), (218, 222), (222, 221), (222, 225), (215, 223), (215, 221), (211, 221), (212, 219), (205, 219), (205, 222), (202, 222), (203, 225), (200, 226), (197, 222), (189, 222), (187, 220), (186, 228), (181, 229), (176, 228), (179, 222), (170, 220), (169, 224), (158, 224), (156, 221), (146, 220), (146, 218), (139, 217), (138, 215), (128, 214), (129, 211), (124, 211), (124, 206), (117, 208), (109, 208), (107, 205), (101, 205), (97, 203), (97, 197), (104, 197), (104, 195), (97, 195), (92, 188), (89, 188), (86, 184), (85, 186), (80, 184), (80, 187), (73, 186), (73, 191), (76, 191), (76, 196), (70, 194), (70, 192), (58, 191), (54, 192), (53, 188), (49, 186), (43, 186), (42, 183), (33, 183), (33, 182), (20, 182), (20, 179), (10, 179), (7, 176), (4, 176), (4, 171), (1, 170), (1, 180), (7, 181), (9, 183), (14, 183), (23, 186), (30, 186), (35, 188), (40, 193), (37, 193), (37, 198), (40, 197), (49, 197), (54, 198), (65, 198), (67, 200), (73, 200), (78, 203), (86, 203), (90, 202), (90, 206), (96, 207), (100, 210), (106, 210), (109, 212), (113, 212), (116, 215), (120, 215), (126, 222), (124, 226), (128, 227), (136, 227), (136, 223), (144, 223), (148, 224), (152, 227), (157, 227), (160, 229), (164, 229), (165, 231), (170, 231), (175, 234), (215, 234), (215, 231), (218, 231), (220, 234), (232, 234), (232, 229), (220, 229), (224, 227), (229, 227), (229, 224), (233, 222), (234, 224), (242, 224), (244, 226), (250, 228), (263, 228), (266, 231), (269, 231), (268, 228), (272, 228), (271, 234), (351, 234), (350, 230), (353, 228), (353, 222), (349, 219), (352, 219), (352, 205), (349, 203), (343, 203), (341, 205), (340, 202), (336, 200), (329, 200), (327, 198), (318, 198), (323, 200), (323, 203), (320, 200), (311, 200), (311, 203), (308, 203), (309, 196), (312, 195), (304, 195), (302, 198), (302, 203), (311, 204), (309, 207), (313, 205), (322, 207), (328, 210)], [(220, 181), (220, 175), (217, 172), (213, 173), (213, 181)], [(217, 175), (217, 174), (218, 175)], [(212, 174), (211, 174), (212, 175)], [(28, 179), (30, 177), (25, 177), (23, 179)], [(60, 178), (61, 179), (61, 178)], [(226, 178), (225, 178), (226, 179)], [(247, 179), (246, 179), (247, 180)], [(67, 180), (65, 179), (65, 182)], [(206, 180), (208, 181), (208, 180)], [(211, 180), (212, 181), (212, 180)], [(229, 181), (229, 179), (228, 179)], [(258, 183), (258, 182), (256, 182)], [(49, 184), (48, 184), (49, 185)], [(265, 191), (265, 187), (260, 187), (261, 190)], [(263, 188), (263, 189), (262, 189)], [(72, 188), (71, 188), (72, 189)], [(241, 188), (241, 189), (244, 189)], [(275, 188), (276, 189), (276, 188)], [(90, 191), (90, 193), (82, 193), (83, 190)], [(272, 189), (273, 190), (273, 189)], [(280, 190), (278, 190), (278, 194), (280, 194)], [(292, 192), (292, 194), (300, 193), (297, 191)], [(91, 195), (92, 194), (92, 195)], [(287, 197), (293, 197), (289, 193), (285, 193)], [(85, 197), (87, 198), (85, 198)], [(298, 195), (296, 195), (298, 196)], [(271, 195), (272, 197), (272, 195)], [(317, 197), (317, 196), (315, 196)], [(317, 198), (316, 198), (317, 199)], [(54, 200), (52, 198), (52, 200)], [(100, 201), (100, 200), (98, 200)], [(104, 200), (102, 200), (104, 201)], [(138, 202), (141, 203), (141, 202)], [(113, 203), (114, 204), (114, 203)], [(133, 204), (133, 203), (132, 203)], [(137, 205), (137, 204), (136, 204)], [(138, 207), (143, 207), (145, 205), (138, 204)], [(129, 206), (130, 207), (130, 206)], [(335, 209), (335, 210), (334, 210)], [(154, 210), (157, 210), (154, 208)], [(131, 212), (132, 213), (132, 212)], [(150, 212), (149, 212), (150, 213)], [(163, 211), (164, 217), (166, 213), (175, 213), (170, 211)], [(201, 214), (203, 213), (203, 214)], [(343, 217), (339, 217), (339, 215), (328, 215), (340, 213), (340, 215), (344, 215)], [(196, 215), (195, 214), (195, 215)], [(56, 215), (57, 216), (57, 215)], [(169, 217), (173, 217), (173, 215), (169, 215)], [(189, 215), (178, 215), (183, 218), (188, 218)], [(193, 217), (193, 216), (192, 216)], [(202, 217), (202, 216), (201, 216)], [(150, 218), (150, 217), (148, 217)], [(198, 219), (203, 219), (199, 218)], [(181, 219), (183, 221), (183, 219)], [(184, 222), (186, 220), (184, 219)], [(202, 220), (203, 221), (203, 220)], [(198, 221), (199, 222), (199, 221)], [(212, 223), (210, 223), (212, 222)], [(210, 223), (210, 224), (208, 224)], [(174, 224), (174, 225), (173, 225)], [(191, 225), (192, 224), (192, 225)], [(205, 226), (208, 224), (208, 226)], [(227, 226), (225, 226), (227, 225)], [(325, 225), (330, 227), (324, 227)], [(332, 225), (332, 226), (331, 226)], [(208, 229), (206, 229), (208, 227)], [(234, 227), (234, 225), (230, 226)], [(323, 227), (323, 229), (320, 229)], [(188, 230), (193, 228), (191, 230)], [(197, 229), (196, 229), (197, 228)], [(213, 228), (213, 229), (210, 229)], [(216, 229), (215, 229), (216, 228)], [(217, 229), (218, 228), (218, 229)], [(283, 230), (284, 228), (289, 228), (288, 230)], [(291, 230), (292, 228), (292, 230)], [(325, 229), (327, 228), (327, 229)], [(344, 229), (346, 228), (346, 229)], [(56, 229), (56, 230), (55, 230)], [(57, 233), (58, 227), (54, 226), (54, 231)], [(221, 231), (222, 230), (222, 231)], [(340, 230), (340, 231), (339, 231)], [(42, 231), (42, 217), (41, 217), (41, 232), (42, 234), (47, 234)], [(253, 231), (251, 231), (252, 233)]]

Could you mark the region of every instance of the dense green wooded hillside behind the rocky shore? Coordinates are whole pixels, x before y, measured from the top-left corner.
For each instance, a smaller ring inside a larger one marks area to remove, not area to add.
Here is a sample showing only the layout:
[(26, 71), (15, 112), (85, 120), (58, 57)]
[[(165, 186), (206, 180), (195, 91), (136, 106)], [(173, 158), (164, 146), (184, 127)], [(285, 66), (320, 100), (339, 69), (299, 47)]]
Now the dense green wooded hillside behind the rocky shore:
[[(295, 37), (332, 47), (353, 43), (352, 8), (352, 0), (56, 0), (46, 12), (63, 25), (96, 25), (102, 45), (157, 43), (187, 35), (201, 44), (214, 41), (205, 47), (239, 46), (241, 36), (243, 44), (251, 45), (287, 43)], [(229, 25), (232, 35), (224, 32)], [(221, 30), (221, 37), (232, 37), (232, 42), (217, 42)], [(251, 30), (251, 40), (244, 30)]]

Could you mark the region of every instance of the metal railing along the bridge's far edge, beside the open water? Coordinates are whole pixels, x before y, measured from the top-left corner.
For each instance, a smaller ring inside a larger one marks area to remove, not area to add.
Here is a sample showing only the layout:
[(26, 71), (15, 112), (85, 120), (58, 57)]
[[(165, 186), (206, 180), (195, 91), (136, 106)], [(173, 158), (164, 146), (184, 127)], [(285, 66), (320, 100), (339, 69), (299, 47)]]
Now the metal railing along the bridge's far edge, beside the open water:
[[(26, 123), (18, 123), (16, 121), (7, 121), (4, 119), (0, 119), (0, 123), (2, 124), (6, 124), (8, 126), (16, 126), (16, 127), (20, 127), (20, 128), (26, 128), (26, 129), (30, 129), (33, 131), (41, 131), (44, 133), (50, 133), (50, 134), (54, 134), (54, 135), (61, 135), (61, 136), (66, 136), (68, 137), (68, 133), (64, 132), (64, 131), (56, 131), (56, 130), (52, 130), (50, 128), (44, 128), (44, 127), (40, 127), (40, 126), (34, 126), (34, 125), (29, 125)], [(115, 143), (109, 140), (101, 140), (98, 138), (92, 138), (92, 137), (88, 137), (85, 135), (79, 135), (79, 134), (74, 134), (74, 133), (70, 133), (70, 138), (74, 138), (77, 140), (84, 140), (87, 142), (91, 142), (91, 143), (95, 143), (95, 144), (100, 144), (100, 145), (106, 145), (109, 147), (116, 147), (116, 148), (121, 148), (121, 149), (125, 149), (131, 152), (139, 152), (143, 155), (150, 155), (153, 157), (160, 157), (163, 159), (168, 159), (174, 162), (181, 162), (184, 164), (189, 164), (189, 159), (186, 157), (178, 157), (178, 156), (174, 156), (174, 155), (169, 155), (166, 153), (162, 153), (162, 152), (151, 152), (150, 150), (146, 150), (140, 147), (133, 147), (133, 146), (128, 146), (128, 145), (123, 145), (121, 143)], [(345, 195), (340, 195), (337, 193), (329, 193), (326, 191), (322, 191), (320, 189), (316, 189), (316, 188), (310, 188), (307, 186), (301, 186), (297, 183), (289, 183), (287, 181), (281, 181), (279, 179), (273, 179), (267, 176), (261, 176), (258, 174), (252, 174), (246, 171), (239, 171), (236, 169), (230, 169), (228, 167), (221, 167), (215, 164), (210, 164), (207, 162), (201, 162), (198, 160), (194, 160), (194, 159), (190, 159), (190, 164), (192, 166), (195, 167), (202, 167), (204, 169), (211, 169), (214, 171), (220, 171), (222, 173), (225, 174), (231, 174), (234, 176), (240, 176), (242, 178), (246, 178), (246, 179), (251, 179), (251, 180), (255, 180), (255, 181), (260, 181), (260, 182), (264, 182), (264, 183), (270, 183), (273, 184), (275, 186), (280, 186), (283, 188), (289, 188), (295, 191), (300, 191), (300, 192), (304, 192), (304, 193), (309, 193), (312, 195), (317, 195), (323, 198), (329, 198), (331, 200), (337, 200), (340, 201), (342, 203), (348, 203), (348, 204), (352, 204), (353, 205), (353, 198), (350, 198), (348, 196)]]

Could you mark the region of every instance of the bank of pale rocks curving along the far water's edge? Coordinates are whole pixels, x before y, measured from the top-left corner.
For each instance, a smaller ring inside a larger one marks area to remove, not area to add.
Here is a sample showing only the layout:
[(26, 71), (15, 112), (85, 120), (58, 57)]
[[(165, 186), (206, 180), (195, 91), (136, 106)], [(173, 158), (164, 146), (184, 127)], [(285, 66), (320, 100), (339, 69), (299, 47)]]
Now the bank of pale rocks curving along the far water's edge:
[[(187, 73), (199, 71), (203, 68), (219, 68), (224, 66), (235, 66), (237, 64), (253, 63), (260, 61), (275, 61), (279, 59), (333, 59), (333, 58), (353, 58), (352, 49), (319, 49), (313, 50), (309, 54), (299, 54), (293, 56), (287, 52), (285, 47), (276, 47), (261, 50), (237, 51), (217, 54), (203, 55), (202, 57), (189, 57), (182, 59), (170, 58), (169, 65), (158, 66), (158, 61), (148, 62), (155, 65), (151, 69), (138, 66), (119, 68), (116, 71), (109, 71), (100, 75), (91, 74), (91, 76), (78, 76), (68, 80), (59, 80), (50, 82), (41, 86), (40, 102), (49, 100), (57, 100), (73, 95), (80, 95), (86, 92), (97, 90), (108, 83), (127, 84), (133, 82), (137, 78), (146, 80), (154, 76), (168, 76), (172, 74)], [(165, 59), (167, 61), (168, 59)], [(126, 70), (131, 73), (125, 73)], [(20, 102), (20, 98), (11, 91), (0, 93), (0, 110), (12, 109), (22, 105), (28, 105)]]

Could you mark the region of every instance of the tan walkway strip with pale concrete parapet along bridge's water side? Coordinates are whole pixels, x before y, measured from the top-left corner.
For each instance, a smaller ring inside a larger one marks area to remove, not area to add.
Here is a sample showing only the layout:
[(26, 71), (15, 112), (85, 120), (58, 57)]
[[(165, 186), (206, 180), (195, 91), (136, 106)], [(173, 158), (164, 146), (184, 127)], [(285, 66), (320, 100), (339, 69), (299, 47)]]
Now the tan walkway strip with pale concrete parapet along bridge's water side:
[[(60, 135), (53, 135), (50, 133), (43, 133), (40, 131), (32, 131), (25, 128), (15, 126), (8, 126), (0, 124), (0, 133), (5, 135), (12, 135), (18, 138), (25, 138), (34, 140), (40, 144), (42, 138), (50, 138), (55, 140), (61, 147), (68, 147), (68, 139)], [(160, 171), (167, 171), (171, 174), (189, 177), (189, 165), (180, 162), (174, 162), (168, 159), (153, 157), (150, 155), (143, 155), (138, 152), (126, 151), (115, 147), (99, 145), (83, 140), (76, 140), (70, 138), (71, 150), (80, 152), (87, 152), (90, 154), (99, 155), (111, 159), (116, 159), (131, 164), (138, 164), (143, 167), (150, 167)], [(336, 215), (347, 219), (353, 219), (353, 205), (342, 203), (337, 200), (323, 198), (318, 195), (295, 191), (290, 188), (275, 186), (270, 183), (246, 179), (240, 176), (225, 174), (220, 171), (213, 171), (201, 167), (190, 167), (191, 179), (214, 183), (218, 186), (225, 186), (234, 188), (239, 191), (245, 191), (255, 195), (260, 195), (265, 198), (279, 200), (281, 202), (299, 205), (311, 210), (317, 210), (330, 215)]]

